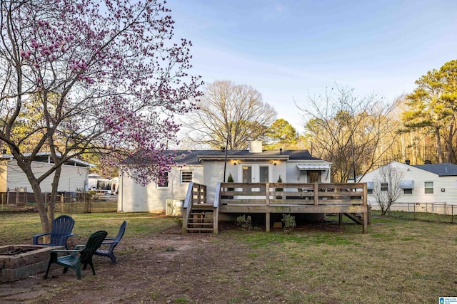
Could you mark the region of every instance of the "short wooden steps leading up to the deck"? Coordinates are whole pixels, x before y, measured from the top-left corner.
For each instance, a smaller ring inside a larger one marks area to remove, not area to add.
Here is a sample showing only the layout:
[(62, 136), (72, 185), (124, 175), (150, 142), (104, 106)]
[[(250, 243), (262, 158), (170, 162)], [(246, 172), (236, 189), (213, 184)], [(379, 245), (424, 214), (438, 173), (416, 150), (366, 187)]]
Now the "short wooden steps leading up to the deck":
[(214, 233), (214, 205), (208, 203), (192, 205), (185, 225), (189, 233)]

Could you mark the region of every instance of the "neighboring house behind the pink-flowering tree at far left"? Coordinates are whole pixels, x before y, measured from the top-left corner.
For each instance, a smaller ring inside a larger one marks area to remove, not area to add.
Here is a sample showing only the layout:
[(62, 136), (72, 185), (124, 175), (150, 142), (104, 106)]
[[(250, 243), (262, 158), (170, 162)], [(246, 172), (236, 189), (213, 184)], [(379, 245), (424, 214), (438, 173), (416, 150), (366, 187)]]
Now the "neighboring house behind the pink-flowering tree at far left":
[[(50, 152), (40, 152), (32, 162), (32, 171), (39, 176), (53, 165)], [(94, 164), (84, 162), (81, 159), (69, 159), (68, 162), (62, 165), (58, 192), (86, 191), (91, 167), (94, 167)], [(53, 179), (54, 173), (41, 182), (40, 186), (43, 193), (51, 192)], [(8, 192), (33, 193), (33, 190), (26, 174), (18, 166), (14, 157), (11, 154), (2, 154), (0, 161), (0, 193), (7, 194)]]

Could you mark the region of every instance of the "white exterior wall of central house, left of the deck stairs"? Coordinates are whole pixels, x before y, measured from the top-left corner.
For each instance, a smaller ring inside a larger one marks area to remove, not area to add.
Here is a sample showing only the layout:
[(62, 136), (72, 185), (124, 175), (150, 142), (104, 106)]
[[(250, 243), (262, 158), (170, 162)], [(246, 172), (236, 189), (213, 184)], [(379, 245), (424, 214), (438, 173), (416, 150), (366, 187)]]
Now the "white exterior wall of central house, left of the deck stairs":
[(124, 212), (164, 212), (167, 199), (184, 200), (189, 183), (181, 183), (181, 171), (192, 171), (193, 182), (203, 182), (203, 167), (189, 165), (172, 167), (169, 172), (169, 187), (157, 187), (156, 182), (146, 186), (129, 177), (121, 176), (119, 180), (118, 211)]

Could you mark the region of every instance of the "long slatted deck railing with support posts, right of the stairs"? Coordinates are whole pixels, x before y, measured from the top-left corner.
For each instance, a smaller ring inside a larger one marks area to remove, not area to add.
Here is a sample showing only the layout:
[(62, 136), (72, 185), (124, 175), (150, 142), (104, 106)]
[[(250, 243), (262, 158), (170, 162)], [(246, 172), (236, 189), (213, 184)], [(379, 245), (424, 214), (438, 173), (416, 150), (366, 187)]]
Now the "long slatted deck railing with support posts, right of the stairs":
[(273, 213), (359, 214), (363, 233), (368, 226), (365, 183), (221, 183), (219, 204), (220, 213), (265, 213), (267, 231)]

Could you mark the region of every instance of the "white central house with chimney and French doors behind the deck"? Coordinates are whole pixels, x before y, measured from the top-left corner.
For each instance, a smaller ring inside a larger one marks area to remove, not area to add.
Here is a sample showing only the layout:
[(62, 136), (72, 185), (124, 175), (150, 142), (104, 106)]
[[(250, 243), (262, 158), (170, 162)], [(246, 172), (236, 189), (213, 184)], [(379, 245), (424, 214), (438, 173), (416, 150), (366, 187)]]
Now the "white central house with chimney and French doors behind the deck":
[[(262, 150), (261, 142), (251, 142), (249, 150), (174, 151), (174, 161), (164, 184), (145, 187), (131, 177), (119, 177), (118, 211), (164, 212), (182, 204), (189, 182), (207, 187), (208, 201), (214, 201), (216, 184), (227, 182), (330, 182), (331, 162), (312, 157), (308, 150)], [(224, 174), (225, 169), (225, 174)], [(224, 180), (225, 175), (225, 180)], [(170, 206), (171, 205), (171, 206)], [(171, 208), (170, 208), (171, 207)]]

